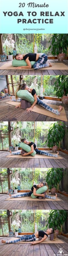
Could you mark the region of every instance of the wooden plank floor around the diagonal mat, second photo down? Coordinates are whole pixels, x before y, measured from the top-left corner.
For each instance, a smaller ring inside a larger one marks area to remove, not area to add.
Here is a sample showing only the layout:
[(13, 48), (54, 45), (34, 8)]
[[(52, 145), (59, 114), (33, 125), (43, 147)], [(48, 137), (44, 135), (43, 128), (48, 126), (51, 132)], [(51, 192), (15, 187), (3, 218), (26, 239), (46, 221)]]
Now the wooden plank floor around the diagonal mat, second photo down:
[[(14, 105), (7, 104), (5, 102), (11, 101), (10, 97), (0, 99), (0, 121), (58, 121), (56, 118), (47, 117), (43, 114), (35, 112), (27, 113), (26, 110), (21, 108), (15, 108)], [(61, 101), (46, 100), (46, 104), (62, 105), (65, 107), (65, 112), (68, 120), (68, 105), (62, 104)]]

